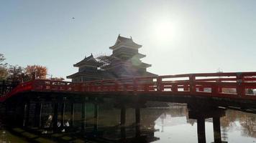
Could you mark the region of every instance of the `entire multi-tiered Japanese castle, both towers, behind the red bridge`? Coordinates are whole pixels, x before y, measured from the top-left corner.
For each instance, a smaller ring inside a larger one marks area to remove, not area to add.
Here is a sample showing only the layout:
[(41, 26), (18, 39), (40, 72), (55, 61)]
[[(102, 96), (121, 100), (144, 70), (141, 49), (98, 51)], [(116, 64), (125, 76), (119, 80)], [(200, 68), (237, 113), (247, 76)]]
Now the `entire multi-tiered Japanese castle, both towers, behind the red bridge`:
[(78, 67), (78, 72), (67, 78), (72, 79), (72, 82), (86, 82), (100, 79), (155, 76), (156, 74), (147, 71), (147, 67), (150, 67), (151, 64), (141, 61), (146, 56), (139, 53), (141, 47), (142, 45), (136, 44), (132, 37), (126, 38), (119, 35), (114, 46), (109, 47), (112, 50), (110, 64), (101, 68), (102, 63), (96, 61), (91, 54), (73, 64)]

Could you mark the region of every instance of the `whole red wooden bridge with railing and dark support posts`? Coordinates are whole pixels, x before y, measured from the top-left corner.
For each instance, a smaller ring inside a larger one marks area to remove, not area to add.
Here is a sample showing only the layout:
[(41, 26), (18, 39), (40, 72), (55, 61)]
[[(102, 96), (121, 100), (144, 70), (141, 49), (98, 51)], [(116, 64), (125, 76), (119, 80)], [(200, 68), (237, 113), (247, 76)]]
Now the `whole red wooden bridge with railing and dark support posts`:
[[(94, 104), (93, 127), (98, 127), (98, 106), (105, 97), (114, 97), (114, 107), (120, 109), (120, 127), (125, 134), (126, 108), (135, 109), (136, 124), (140, 124), (140, 109), (147, 101), (177, 102), (188, 105), (188, 116), (197, 119), (198, 142), (205, 140), (205, 119), (213, 118), (214, 142), (221, 142), (220, 117), (224, 109), (256, 112), (256, 72), (178, 74), (158, 77), (110, 79), (86, 83), (34, 80), (19, 84), (0, 97), (6, 103), (8, 121), (29, 127), (42, 127), (42, 104), (52, 104), (52, 129), (58, 131), (58, 121), (65, 123), (65, 106), (70, 106), (70, 127), (75, 121), (75, 104), (81, 104), (81, 131), (86, 128), (86, 103)], [(104, 98), (99, 98), (104, 97)], [(34, 105), (35, 107), (31, 107)], [(59, 114), (61, 106), (61, 114)], [(34, 110), (34, 112), (32, 112)], [(35, 115), (32, 116), (31, 112)], [(65, 113), (67, 112), (67, 113)], [(138, 134), (140, 126), (136, 127)], [(216, 133), (216, 134), (215, 134)]]

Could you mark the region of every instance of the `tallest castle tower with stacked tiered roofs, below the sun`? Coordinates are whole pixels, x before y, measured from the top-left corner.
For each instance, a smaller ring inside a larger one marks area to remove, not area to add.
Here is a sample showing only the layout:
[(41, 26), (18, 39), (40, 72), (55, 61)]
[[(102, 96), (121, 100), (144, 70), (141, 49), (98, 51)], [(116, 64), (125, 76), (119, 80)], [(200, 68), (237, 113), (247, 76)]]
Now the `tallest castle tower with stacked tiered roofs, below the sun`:
[(106, 70), (114, 73), (118, 78), (155, 76), (156, 74), (147, 71), (147, 67), (151, 64), (141, 61), (146, 56), (139, 53), (141, 47), (142, 45), (135, 43), (132, 37), (126, 38), (119, 35), (114, 46), (109, 47), (112, 49), (113, 61)]

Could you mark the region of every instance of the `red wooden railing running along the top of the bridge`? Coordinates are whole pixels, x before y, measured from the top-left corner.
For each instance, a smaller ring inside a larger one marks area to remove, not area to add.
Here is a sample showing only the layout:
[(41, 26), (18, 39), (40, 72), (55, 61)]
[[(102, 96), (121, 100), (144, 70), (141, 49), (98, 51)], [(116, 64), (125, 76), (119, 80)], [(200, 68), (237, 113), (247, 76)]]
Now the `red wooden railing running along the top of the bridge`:
[[(230, 99), (256, 99), (256, 72), (178, 74), (157, 77), (107, 79), (85, 83), (35, 80), (19, 84), (0, 102), (14, 94), (37, 92), (119, 92), (122, 94), (166, 94)], [(255, 91), (255, 93), (254, 93)]]

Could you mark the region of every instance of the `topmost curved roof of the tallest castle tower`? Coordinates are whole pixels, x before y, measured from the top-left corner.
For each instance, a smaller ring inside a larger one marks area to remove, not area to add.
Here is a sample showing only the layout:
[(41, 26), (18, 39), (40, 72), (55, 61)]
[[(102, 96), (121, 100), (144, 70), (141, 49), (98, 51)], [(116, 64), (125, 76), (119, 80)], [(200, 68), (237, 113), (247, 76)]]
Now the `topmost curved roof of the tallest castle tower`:
[(135, 43), (131, 38), (126, 38), (124, 36), (119, 36), (116, 39), (116, 43), (114, 44), (114, 46), (110, 46), (109, 49), (117, 49), (120, 46), (126, 46), (132, 49), (139, 49), (140, 47), (142, 47), (142, 45)]

